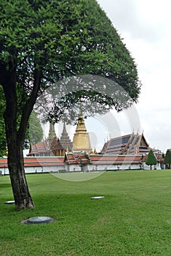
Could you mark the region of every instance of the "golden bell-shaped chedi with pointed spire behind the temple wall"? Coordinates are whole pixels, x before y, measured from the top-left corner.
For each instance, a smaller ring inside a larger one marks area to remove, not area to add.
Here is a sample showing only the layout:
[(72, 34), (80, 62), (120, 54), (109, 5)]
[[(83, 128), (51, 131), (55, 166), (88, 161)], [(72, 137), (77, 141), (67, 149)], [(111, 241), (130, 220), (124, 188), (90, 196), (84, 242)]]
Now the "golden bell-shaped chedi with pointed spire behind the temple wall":
[(90, 137), (84, 124), (81, 109), (79, 110), (79, 119), (76, 126), (76, 132), (73, 135), (73, 151), (85, 151), (87, 153), (92, 152), (90, 145)]

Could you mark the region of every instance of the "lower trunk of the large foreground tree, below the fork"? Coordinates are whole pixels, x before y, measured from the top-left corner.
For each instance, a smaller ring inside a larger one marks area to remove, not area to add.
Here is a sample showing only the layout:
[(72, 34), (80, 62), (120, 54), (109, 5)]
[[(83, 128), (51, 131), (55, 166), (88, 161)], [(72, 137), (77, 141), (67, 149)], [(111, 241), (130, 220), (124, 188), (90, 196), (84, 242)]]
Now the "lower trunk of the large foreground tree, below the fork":
[(8, 143), (8, 167), (16, 210), (33, 208), (33, 200), (25, 178), (23, 145), (15, 139)]

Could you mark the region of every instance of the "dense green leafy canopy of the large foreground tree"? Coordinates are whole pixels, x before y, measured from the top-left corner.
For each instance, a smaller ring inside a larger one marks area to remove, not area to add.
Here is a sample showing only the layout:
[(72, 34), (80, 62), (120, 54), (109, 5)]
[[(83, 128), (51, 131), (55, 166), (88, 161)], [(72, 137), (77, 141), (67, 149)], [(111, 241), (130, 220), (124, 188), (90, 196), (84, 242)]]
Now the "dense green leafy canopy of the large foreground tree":
[(0, 7), (1, 69), (17, 68), (22, 102), (25, 91), (31, 94), (36, 69), (41, 89), (47, 82), (92, 74), (114, 80), (137, 101), (135, 61), (96, 1), (16, 0), (1, 1)]

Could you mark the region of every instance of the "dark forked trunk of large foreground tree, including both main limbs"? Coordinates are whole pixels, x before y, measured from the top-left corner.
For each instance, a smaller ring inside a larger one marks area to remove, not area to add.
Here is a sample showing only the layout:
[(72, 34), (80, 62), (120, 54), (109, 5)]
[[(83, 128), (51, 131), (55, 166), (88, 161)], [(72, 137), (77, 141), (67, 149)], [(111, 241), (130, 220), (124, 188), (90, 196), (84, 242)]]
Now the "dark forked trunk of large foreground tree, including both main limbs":
[[(21, 88), (17, 91), (18, 78), (17, 65), (15, 65), (15, 62), (13, 61), (9, 61), (8, 64), (0, 65), (0, 84), (3, 86), (6, 99), (4, 121), (8, 148), (9, 176), (15, 199), (15, 207), (16, 210), (20, 210), (34, 207), (25, 178), (23, 143), (25, 140), (28, 118), (31, 115), (33, 105), (36, 102), (36, 97), (40, 89), (41, 70), (35, 68), (33, 71), (33, 89), (31, 95), (27, 100), (18, 102), (18, 92), (20, 95)], [(21, 91), (23, 90), (21, 89)], [(26, 92), (25, 95), (27, 95)], [(21, 115), (20, 121), (18, 121), (19, 115)]]

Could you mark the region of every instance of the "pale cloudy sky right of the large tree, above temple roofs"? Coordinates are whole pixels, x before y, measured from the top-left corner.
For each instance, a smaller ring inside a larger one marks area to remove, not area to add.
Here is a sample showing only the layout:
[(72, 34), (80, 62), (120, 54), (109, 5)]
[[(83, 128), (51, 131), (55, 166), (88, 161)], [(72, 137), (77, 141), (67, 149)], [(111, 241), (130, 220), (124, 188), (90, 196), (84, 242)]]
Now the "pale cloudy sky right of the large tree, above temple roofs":
[[(143, 132), (151, 148), (165, 152), (171, 148), (170, 1), (98, 0), (98, 3), (135, 59), (142, 83), (138, 104), (129, 110), (131, 115), (127, 111), (114, 113), (119, 133), (129, 134), (132, 129), (135, 133)], [(108, 133), (108, 137), (114, 134)]]

